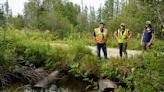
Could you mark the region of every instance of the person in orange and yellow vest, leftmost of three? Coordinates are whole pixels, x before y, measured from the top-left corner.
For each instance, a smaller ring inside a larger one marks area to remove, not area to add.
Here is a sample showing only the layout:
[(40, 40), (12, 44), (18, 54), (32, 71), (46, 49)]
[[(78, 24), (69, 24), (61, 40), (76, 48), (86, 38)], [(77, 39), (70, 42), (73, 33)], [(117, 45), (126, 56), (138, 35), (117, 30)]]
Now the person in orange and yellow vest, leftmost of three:
[(106, 46), (106, 43), (108, 41), (108, 29), (105, 28), (104, 22), (100, 22), (99, 28), (95, 28), (93, 38), (96, 41), (98, 58), (101, 59), (100, 53), (102, 49), (104, 53), (104, 58), (108, 59)]

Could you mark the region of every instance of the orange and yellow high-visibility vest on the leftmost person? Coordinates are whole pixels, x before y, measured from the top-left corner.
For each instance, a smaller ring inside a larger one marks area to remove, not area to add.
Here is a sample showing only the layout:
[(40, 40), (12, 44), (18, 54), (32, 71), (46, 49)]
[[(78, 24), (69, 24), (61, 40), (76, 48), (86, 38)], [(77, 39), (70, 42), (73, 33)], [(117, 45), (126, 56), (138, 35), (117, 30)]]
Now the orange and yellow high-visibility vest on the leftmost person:
[(100, 28), (95, 29), (96, 34), (96, 42), (97, 43), (106, 43), (108, 40), (108, 30), (106, 28), (103, 29), (103, 32), (101, 32)]

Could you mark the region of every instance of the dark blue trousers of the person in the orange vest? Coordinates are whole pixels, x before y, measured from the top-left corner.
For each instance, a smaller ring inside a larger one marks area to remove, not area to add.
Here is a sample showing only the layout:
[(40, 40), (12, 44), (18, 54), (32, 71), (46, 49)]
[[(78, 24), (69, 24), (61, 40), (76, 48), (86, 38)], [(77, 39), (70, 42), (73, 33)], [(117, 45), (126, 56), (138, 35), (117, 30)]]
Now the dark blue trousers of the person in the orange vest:
[(100, 55), (101, 49), (103, 50), (105, 59), (107, 59), (106, 43), (97, 43), (97, 56), (99, 57), (99, 59), (101, 59), (101, 55)]

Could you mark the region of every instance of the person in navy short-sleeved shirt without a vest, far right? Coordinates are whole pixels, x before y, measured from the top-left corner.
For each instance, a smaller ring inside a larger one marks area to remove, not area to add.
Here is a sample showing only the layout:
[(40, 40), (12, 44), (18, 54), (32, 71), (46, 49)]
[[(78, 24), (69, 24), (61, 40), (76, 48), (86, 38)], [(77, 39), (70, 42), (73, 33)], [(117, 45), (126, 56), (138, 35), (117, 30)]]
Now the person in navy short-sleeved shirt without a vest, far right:
[(154, 40), (154, 30), (152, 29), (151, 22), (146, 21), (145, 27), (141, 37), (141, 46), (142, 49), (150, 49), (152, 42)]

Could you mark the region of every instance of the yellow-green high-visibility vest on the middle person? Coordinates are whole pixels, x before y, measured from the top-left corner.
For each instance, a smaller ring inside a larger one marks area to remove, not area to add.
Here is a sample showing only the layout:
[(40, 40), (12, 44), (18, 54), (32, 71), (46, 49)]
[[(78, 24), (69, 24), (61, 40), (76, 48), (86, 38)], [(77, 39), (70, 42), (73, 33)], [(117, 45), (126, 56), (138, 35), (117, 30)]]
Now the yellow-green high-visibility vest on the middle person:
[(122, 31), (119, 29), (118, 30), (118, 43), (126, 43), (127, 42), (127, 37), (128, 37), (128, 29), (125, 29), (125, 31), (122, 33)]

